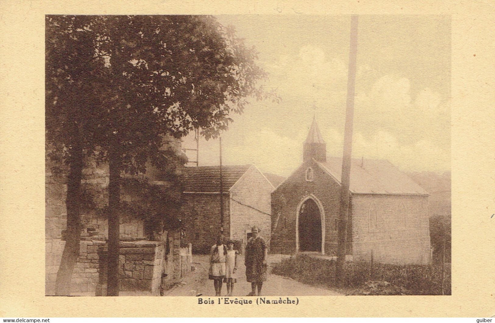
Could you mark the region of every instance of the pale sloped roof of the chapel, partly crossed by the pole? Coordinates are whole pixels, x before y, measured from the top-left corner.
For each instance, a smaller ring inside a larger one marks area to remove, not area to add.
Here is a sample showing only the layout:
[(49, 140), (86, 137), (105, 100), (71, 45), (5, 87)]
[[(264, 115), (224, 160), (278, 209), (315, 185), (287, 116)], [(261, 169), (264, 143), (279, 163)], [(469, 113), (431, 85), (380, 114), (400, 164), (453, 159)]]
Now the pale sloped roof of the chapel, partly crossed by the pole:
[[(339, 183), (342, 179), (342, 159), (328, 158), (317, 162)], [(362, 164), (362, 167), (361, 167)], [(416, 182), (387, 160), (352, 159), (350, 191), (356, 194), (428, 195)]]

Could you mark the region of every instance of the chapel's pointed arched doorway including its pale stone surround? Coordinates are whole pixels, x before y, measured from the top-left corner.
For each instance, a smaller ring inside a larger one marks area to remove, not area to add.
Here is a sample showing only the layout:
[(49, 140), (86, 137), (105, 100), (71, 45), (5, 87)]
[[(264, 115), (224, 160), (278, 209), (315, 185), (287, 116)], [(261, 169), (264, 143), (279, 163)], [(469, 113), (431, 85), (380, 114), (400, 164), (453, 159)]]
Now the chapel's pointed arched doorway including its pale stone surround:
[(297, 251), (325, 253), (324, 211), (316, 197), (303, 199), (297, 208)]

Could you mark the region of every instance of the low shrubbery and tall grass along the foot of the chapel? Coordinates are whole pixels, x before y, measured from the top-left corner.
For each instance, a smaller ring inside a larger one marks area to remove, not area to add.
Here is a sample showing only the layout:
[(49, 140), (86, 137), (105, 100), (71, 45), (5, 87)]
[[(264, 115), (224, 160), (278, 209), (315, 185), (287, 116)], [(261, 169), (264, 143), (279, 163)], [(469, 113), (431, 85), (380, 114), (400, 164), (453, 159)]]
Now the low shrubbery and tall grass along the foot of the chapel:
[[(272, 267), (272, 273), (297, 281), (335, 287), (335, 261), (297, 255)], [(442, 266), (347, 262), (347, 287), (353, 295), (441, 295)], [(450, 267), (445, 266), (444, 294), (450, 295)]]

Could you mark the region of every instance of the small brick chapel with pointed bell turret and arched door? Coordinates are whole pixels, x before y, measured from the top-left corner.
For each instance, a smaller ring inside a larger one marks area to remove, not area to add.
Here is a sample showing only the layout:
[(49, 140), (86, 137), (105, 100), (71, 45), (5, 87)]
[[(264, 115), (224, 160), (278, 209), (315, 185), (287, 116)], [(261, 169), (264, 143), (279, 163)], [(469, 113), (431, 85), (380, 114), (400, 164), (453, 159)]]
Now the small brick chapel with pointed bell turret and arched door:
[[(337, 254), (342, 160), (327, 158), (313, 119), (302, 164), (271, 194), (271, 251)], [(385, 160), (352, 160), (347, 257), (431, 262), (428, 193)]]

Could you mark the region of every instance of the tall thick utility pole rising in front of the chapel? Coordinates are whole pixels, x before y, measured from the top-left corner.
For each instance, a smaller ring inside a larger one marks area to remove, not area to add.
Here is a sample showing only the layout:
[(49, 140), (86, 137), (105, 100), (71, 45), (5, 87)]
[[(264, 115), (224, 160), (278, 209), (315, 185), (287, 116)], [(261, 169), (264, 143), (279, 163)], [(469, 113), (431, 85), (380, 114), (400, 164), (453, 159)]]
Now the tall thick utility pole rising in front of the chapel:
[(356, 80), (356, 54), (357, 54), (357, 15), (350, 17), (350, 46), (349, 46), (349, 70), (347, 73), (347, 108), (346, 126), (344, 130), (344, 154), (342, 158), (342, 190), (339, 216), (339, 245), (337, 248), (337, 267), (335, 279), (338, 286), (345, 283), (347, 243), (347, 217), (349, 213), (349, 183), (350, 183), (350, 157), (352, 153), (352, 122), (354, 118), (354, 88)]

